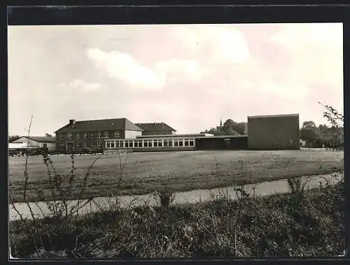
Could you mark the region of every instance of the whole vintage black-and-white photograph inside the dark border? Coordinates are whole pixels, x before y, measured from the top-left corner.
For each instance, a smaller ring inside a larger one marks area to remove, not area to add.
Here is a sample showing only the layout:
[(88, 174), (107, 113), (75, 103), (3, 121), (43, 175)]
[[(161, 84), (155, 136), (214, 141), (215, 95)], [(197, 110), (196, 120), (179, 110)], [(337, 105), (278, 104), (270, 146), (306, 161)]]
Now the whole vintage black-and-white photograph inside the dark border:
[(8, 26), (11, 258), (339, 257), (342, 23)]

